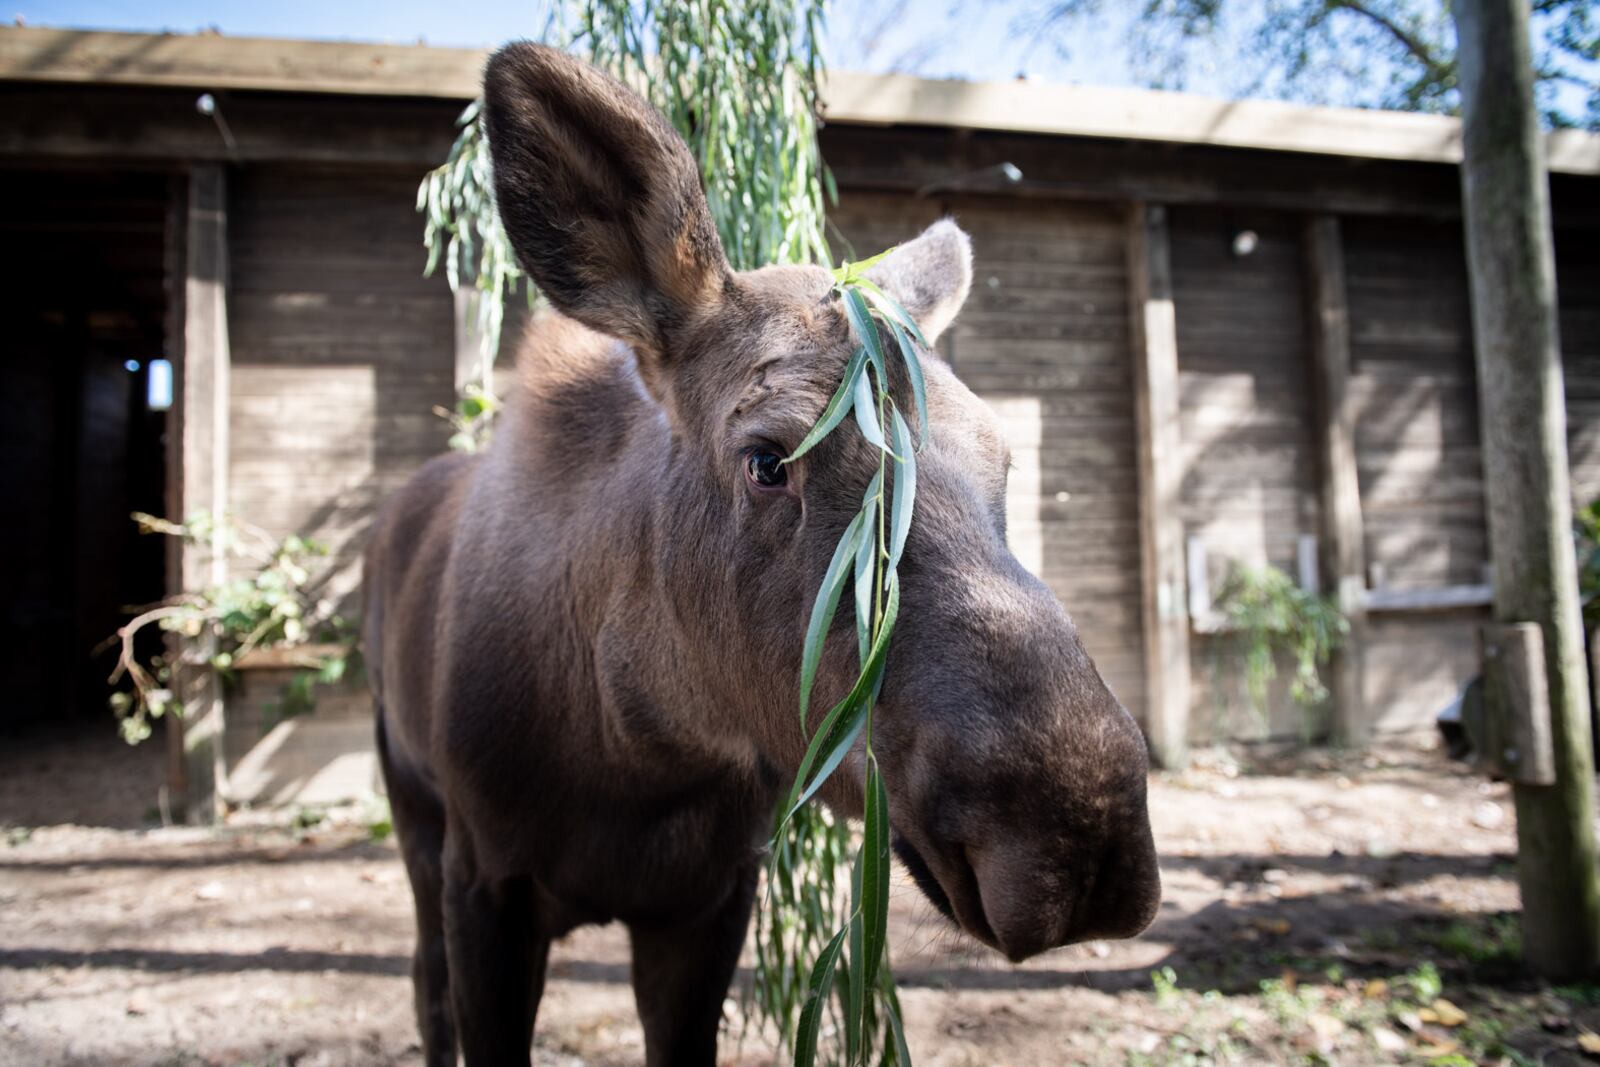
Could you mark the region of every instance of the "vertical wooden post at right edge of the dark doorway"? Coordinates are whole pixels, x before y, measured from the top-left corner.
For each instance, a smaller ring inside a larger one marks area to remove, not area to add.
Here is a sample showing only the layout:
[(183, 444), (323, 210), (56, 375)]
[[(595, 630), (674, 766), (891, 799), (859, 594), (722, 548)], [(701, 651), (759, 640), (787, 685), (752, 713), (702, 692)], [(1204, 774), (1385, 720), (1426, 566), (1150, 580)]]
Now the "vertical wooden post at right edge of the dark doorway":
[[(184, 312), (181, 362), (182, 490), (179, 518), (227, 510), (227, 176), (218, 165), (189, 173), (184, 219)], [(227, 579), (219, 544), (187, 545), (182, 589), (205, 589)], [(182, 721), (184, 814), (211, 822), (221, 814), (227, 782), (222, 753), (222, 685), (208, 659), (206, 640), (184, 649), (173, 685), (187, 709)]]

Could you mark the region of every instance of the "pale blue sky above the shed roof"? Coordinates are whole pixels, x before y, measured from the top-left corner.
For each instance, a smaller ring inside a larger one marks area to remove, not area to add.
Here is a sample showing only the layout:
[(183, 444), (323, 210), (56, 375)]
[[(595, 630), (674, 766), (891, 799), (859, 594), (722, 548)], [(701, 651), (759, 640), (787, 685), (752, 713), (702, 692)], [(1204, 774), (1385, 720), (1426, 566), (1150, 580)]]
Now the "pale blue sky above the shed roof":
[[(1011, 78), (1027, 72), (1053, 82), (1134, 85), (1122, 48), (1128, 14), (1075, 34), (1069, 56), (1029, 48), (1013, 32), (1018, 3), (984, 0), (835, 0), (829, 61), (846, 69), (907, 69), (930, 77)], [(538, 30), (538, 0), (11, 0), (10, 14), (30, 26), (315, 37), (389, 43), (488, 46)], [(870, 43), (869, 43), (870, 42)], [(1205, 88), (1203, 78), (1194, 88)]]

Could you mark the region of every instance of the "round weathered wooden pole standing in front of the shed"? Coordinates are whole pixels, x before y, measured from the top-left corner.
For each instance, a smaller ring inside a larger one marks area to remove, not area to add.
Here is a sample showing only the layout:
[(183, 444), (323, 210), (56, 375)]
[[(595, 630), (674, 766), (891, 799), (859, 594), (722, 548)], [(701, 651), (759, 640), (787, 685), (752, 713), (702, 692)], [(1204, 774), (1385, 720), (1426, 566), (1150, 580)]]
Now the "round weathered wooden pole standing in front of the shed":
[(1544, 633), (1555, 769), (1554, 785), (1514, 787), (1523, 950), (1539, 974), (1570, 981), (1600, 971), (1600, 891), (1555, 258), (1533, 107), (1528, 3), (1458, 0), (1453, 13), (1494, 619), (1534, 622)]

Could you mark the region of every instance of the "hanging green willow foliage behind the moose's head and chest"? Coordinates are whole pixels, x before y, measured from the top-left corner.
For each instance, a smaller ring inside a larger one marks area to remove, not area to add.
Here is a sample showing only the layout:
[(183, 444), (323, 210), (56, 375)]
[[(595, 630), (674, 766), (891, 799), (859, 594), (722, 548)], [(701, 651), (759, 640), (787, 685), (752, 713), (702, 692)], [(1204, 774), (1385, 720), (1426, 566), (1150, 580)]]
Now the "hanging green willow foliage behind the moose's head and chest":
[[(824, 194), (834, 190), (816, 142), (822, 16), (822, 0), (579, 0), (557, 10), (544, 38), (586, 53), (667, 115), (699, 163), (730, 262), (752, 269), (829, 262)], [(494, 210), (478, 102), (462, 112), (459, 125), (450, 157), (418, 190), (418, 210), (426, 219), (427, 270), (443, 262), (451, 288), (472, 298), (480, 362), (456, 410), (443, 413), (454, 430), (451, 446), (470, 451), (486, 440), (498, 408), (491, 370), (504, 302), (523, 299), (531, 307), (536, 294)], [(842, 278), (842, 286), (846, 282), (856, 288), (856, 278)], [(755, 917), (757, 968), (746, 1022), (773, 1027), (781, 1043), (795, 1048), (810, 998), (810, 961), (824, 957), (830, 934), (854, 912), (842, 899), (853, 832), (814, 805), (787, 816), (773, 838), (766, 904)], [(859, 952), (851, 953), (856, 960)], [(882, 985), (891, 989), (886, 968)], [(856, 990), (864, 992), (859, 984)], [(846, 1051), (867, 1062), (874, 1043), (882, 1043), (882, 1027), (861, 1030), (861, 1043)]]

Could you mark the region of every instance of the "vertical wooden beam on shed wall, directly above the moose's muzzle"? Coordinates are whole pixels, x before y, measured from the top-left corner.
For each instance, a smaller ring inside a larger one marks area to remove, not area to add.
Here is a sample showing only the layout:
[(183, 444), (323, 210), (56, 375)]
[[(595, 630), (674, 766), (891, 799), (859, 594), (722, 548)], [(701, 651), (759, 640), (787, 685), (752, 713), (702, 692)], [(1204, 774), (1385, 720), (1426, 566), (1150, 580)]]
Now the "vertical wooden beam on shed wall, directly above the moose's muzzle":
[(1178, 318), (1162, 205), (1130, 206), (1128, 290), (1139, 434), (1146, 733), (1155, 761), (1181, 768), (1189, 763), (1189, 598), (1178, 514)]

